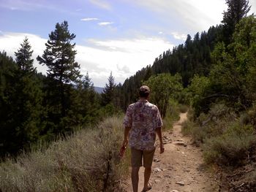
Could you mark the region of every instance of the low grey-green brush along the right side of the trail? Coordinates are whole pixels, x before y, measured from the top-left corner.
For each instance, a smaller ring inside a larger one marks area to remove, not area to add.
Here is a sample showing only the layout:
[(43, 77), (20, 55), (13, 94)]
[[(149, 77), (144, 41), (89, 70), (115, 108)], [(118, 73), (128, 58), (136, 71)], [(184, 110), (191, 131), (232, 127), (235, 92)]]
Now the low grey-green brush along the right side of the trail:
[(211, 107), (208, 114), (200, 114), (183, 124), (183, 134), (190, 134), (196, 145), (203, 147), (207, 164), (238, 166), (249, 161), (250, 152), (256, 144), (254, 118), (233, 112), (223, 104)]

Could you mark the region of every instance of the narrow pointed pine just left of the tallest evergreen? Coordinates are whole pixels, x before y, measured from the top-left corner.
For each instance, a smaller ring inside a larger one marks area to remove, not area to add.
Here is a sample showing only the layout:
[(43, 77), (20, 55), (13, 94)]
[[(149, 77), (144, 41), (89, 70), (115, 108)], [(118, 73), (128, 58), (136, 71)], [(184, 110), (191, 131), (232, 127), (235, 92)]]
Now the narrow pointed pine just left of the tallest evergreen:
[(39, 130), (42, 128), (42, 82), (37, 78), (33, 66), (33, 50), (26, 37), (20, 44), (20, 49), (15, 52), (18, 70), (15, 74), (15, 88), (12, 94), (12, 108), (15, 126), (16, 145), (18, 148), (29, 147), (39, 139)]

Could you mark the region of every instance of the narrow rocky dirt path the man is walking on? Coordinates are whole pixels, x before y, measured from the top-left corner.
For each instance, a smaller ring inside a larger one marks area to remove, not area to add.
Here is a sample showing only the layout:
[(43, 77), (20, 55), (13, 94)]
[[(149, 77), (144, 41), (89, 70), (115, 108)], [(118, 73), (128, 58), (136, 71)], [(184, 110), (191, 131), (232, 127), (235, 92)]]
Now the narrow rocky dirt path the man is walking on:
[[(173, 125), (173, 131), (163, 132), (165, 153), (159, 154), (157, 147), (152, 165), (151, 192), (215, 192), (219, 191), (214, 176), (206, 172), (200, 147), (192, 145), (191, 137), (181, 134), (181, 123), (187, 113)], [(140, 168), (139, 190), (143, 189), (143, 172)], [(127, 191), (132, 191), (132, 182), (127, 181)]]

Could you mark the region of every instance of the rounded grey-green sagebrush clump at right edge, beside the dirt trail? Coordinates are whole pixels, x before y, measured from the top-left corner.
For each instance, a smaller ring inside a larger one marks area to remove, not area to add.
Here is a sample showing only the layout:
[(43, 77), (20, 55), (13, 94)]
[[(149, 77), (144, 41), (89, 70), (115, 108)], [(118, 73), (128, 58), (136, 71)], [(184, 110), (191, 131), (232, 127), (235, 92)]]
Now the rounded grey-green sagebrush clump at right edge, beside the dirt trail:
[(206, 139), (203, 155), (208, 164), (239, 165), (246, 160), (255, 143), (252, 126), (233, 123), (224, 134)]

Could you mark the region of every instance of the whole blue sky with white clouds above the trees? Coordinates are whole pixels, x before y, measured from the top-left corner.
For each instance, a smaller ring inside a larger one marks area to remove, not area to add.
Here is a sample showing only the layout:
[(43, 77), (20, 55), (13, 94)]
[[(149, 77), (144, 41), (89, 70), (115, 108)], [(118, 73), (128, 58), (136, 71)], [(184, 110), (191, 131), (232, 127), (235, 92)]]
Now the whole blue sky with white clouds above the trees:
[[(249, 4), (249, 14), (256, 12), (256, 1)], [(0, 0), (0, 51), (15, 58), (28, 37), (34, 66), (46, 74), (37, 55), (56, 23), (67, 20), (81, 74), (105, 87), (112, 72), (122, 84), (187, 34), (220, 24), (225, 10), (225, 0)]]

